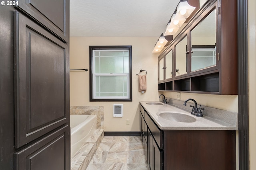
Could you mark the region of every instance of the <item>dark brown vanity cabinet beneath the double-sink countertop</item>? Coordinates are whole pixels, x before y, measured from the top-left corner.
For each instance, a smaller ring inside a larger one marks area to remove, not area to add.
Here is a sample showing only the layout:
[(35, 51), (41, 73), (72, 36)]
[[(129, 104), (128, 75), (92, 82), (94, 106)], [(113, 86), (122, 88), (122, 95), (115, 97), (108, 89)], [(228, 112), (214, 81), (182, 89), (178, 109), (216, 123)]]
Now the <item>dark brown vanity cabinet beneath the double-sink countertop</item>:
[(235, 130), (162, 130), (141, 104), (140, 117), (150, 170), (236, 170)]

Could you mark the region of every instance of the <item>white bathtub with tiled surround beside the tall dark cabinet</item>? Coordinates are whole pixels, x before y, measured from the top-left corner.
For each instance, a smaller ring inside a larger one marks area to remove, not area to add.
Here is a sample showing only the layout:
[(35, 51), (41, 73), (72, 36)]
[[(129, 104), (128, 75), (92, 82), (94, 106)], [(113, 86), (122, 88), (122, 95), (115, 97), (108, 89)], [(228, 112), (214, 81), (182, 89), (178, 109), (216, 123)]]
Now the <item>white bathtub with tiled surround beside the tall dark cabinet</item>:
[(96, 115), (70, 115), (71, 157), (96, 130)]

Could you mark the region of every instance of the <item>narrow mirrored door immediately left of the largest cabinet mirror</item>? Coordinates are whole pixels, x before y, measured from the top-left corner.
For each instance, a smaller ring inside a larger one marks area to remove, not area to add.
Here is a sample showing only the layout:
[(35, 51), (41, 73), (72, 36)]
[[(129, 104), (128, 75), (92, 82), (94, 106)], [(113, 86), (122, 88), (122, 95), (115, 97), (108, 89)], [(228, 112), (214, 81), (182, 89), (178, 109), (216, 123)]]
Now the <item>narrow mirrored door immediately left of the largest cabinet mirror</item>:
[(188, 38), (185, 36), (175, 46), (175, 76), (187, 73), (187, 44)]

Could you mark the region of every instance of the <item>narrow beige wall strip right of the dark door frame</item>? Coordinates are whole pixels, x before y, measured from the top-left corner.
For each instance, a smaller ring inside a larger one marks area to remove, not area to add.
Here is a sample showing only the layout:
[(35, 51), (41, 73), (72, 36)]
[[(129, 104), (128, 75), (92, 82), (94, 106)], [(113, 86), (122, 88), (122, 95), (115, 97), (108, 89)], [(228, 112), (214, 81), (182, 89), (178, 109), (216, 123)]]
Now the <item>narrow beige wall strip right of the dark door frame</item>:
[(256, 1), (248, 0), (248, 45), (249, 45), (249, 149), (250, 170), (256, 169)]

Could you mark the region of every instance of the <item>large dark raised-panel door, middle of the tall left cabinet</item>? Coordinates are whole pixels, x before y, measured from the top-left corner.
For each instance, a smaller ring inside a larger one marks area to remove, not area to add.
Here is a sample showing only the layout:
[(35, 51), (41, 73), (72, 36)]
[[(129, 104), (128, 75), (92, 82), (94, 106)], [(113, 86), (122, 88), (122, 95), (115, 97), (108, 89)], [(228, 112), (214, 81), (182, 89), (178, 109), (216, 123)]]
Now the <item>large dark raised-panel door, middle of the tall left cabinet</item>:
[(69, 123), (68, 46), (18, 12), (14, 31), (15, 147)]

